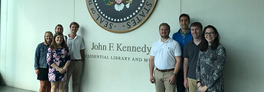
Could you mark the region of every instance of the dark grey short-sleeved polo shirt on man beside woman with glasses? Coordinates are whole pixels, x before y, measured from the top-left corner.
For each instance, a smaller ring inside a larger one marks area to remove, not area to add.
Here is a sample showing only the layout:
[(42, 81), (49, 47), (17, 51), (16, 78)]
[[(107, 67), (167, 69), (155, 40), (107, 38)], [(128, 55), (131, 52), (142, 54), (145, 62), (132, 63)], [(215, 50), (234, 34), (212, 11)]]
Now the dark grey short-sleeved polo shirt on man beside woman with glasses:
[(191, 79), (196, 79), (196, 65), (198, 60), (198, 55), (200, 52), (200, 48), (192, 41), (189, 41), (185, 44), (184, 50), (183, 50), (183, 57), (188, 58), (188, 73), (187, 77)]

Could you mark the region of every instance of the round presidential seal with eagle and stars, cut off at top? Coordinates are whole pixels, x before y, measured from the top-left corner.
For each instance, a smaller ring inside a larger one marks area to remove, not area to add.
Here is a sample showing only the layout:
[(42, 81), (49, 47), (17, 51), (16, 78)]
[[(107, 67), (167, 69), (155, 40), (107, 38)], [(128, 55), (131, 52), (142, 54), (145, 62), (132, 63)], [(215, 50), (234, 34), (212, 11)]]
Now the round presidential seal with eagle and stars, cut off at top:
[(103, 29), (123, 33), (143, 24), (156, 0), (86, 0), (92, 19)]

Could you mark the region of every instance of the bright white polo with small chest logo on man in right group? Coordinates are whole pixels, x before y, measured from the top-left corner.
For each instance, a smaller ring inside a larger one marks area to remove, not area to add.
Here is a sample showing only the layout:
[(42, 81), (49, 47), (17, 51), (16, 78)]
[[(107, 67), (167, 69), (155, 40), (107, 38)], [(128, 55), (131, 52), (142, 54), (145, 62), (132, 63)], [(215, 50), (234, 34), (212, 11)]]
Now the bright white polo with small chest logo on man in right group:
[(175, 56), (182, 55), (181, 46), (170, 37), (164, 43), (160, 39), (152, 44), (151, 55), (155, 56), (154, 64), (158, 69), (173, 69), (176, 64)]

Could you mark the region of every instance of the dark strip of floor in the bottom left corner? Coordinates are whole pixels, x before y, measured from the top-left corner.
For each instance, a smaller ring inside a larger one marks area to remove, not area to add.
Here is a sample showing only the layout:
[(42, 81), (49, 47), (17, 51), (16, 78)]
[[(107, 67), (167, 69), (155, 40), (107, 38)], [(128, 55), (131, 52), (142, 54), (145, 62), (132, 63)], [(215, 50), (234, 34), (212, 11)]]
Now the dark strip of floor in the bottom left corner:
[(0, 85), (0, 92), (36, 92), (26, 89), (14, 88), (11, 86)]

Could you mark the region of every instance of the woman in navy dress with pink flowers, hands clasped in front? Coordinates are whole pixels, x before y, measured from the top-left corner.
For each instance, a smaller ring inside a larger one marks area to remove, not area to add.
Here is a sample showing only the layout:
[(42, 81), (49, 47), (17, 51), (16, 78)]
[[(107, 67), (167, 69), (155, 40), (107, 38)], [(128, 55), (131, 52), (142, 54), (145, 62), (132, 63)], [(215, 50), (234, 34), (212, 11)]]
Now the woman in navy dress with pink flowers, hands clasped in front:
[(70, 52), (63, 39), (63, 34), (57, 32), (54, 34), (47, 53), (48, 78), (51, 81), (51, 92), (57, 92), (57, 90), (58, 92), (63, 92), (63, 84), (67, 79), (67, 67), (70, 60)]

